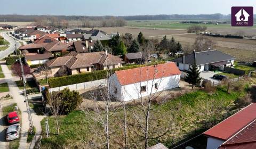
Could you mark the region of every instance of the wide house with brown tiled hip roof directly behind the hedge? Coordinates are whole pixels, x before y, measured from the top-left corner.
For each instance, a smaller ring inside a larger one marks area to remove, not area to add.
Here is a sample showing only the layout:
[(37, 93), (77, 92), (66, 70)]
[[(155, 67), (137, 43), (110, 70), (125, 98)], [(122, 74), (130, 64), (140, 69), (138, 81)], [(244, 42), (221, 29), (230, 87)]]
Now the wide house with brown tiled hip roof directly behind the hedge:
[(105, 70), (122, 67), (123, 61), (108, 52), (80, 53), (75, 56), (57, 57), (47, 61), (55, 76), (59, 69), (66, 67), (69, 74), (91, 72), (93, 70)]

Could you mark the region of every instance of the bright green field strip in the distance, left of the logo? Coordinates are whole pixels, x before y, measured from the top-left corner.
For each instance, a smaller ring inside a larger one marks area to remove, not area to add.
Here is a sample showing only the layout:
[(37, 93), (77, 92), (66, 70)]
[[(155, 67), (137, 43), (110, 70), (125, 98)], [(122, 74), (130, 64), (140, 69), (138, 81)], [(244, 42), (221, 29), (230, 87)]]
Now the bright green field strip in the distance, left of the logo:
[[(129, 27), (138, 27), (138, 28), (159, 28), (159, 29), (187, 29), (195, 23), (180, 23), (183, 20), (132, 20), (127, 21), (127, 26)], [(192, 20), (191, 20), (192, 21)], [(193, 20), (196, 21), (196, 20)], [(208, 20), (212, 21), (212, 20)], [(199, 23), (198, 23), (199, 24)], [(214, 27), (214, 28), (230, 28), (230, 24), (204, 24), (199, 25)], [(253, 28), (256, 28), (255, 26)], [(241, 28), (239, 28), (241, 29)]]

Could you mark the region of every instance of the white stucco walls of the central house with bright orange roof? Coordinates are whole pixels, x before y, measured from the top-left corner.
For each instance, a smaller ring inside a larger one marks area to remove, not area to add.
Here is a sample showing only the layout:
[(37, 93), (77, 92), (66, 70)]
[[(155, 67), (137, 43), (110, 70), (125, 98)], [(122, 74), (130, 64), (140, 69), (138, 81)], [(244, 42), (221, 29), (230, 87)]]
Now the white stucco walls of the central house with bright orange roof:
[[(110, 86), (111, 88), (113, 88), (111, 94), (113, 94), (113, 96), (116, 97), (117, 100), (124, 100), (124, 101), (134, 100), (140, 97), (147, 96), (150, 93), (153, 94), (156, 92), (160, 92), (162, 90), (179, 87), (179, 82), (180, 82), (180, 74), (175, 76), (155, 79), (154, 82), (153, 80), (149, 80), (149, 81), (143, 81), (143, 82), (138, 82), (135, 84), (129, 84), (124, 86), (118, 85), (119, 81), (115, 76), (115, 74), (113, 74), (113, 76), (111, 76), (110, 78), (111, 78)], [(155, 86), (154, 86), (156, 83), (158, 84), (157, 89), (155, 89)], [(146, 86), (146, 92), (140, 93), (141, 86)], [(117, 94), (114, 93), (115, 87), (118, 90)]]

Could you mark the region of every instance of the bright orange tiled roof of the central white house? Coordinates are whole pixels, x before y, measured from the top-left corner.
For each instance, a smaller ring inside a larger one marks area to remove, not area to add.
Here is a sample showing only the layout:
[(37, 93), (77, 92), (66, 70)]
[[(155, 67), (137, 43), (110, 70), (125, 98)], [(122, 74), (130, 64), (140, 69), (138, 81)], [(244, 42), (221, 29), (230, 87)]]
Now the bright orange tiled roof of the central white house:
[(115, 73), (121, 85), (129, 85), (136, 82), (174, 76), (181, 72), (177, 65), (171, 62), (156, 66), (151, 65), (148, 67), (120, 70)]

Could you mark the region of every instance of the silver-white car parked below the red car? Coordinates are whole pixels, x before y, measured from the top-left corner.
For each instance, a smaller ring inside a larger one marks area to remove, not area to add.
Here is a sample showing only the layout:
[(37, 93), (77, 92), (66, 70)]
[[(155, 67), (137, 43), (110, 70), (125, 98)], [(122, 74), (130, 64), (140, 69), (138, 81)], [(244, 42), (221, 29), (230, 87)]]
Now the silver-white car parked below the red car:
[(6, 141), (19, 138), (20, 128), (21, 128), (21, 126), (19, 123), (9, 126), (6, 131), (6, 135), (5, 135)]

